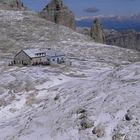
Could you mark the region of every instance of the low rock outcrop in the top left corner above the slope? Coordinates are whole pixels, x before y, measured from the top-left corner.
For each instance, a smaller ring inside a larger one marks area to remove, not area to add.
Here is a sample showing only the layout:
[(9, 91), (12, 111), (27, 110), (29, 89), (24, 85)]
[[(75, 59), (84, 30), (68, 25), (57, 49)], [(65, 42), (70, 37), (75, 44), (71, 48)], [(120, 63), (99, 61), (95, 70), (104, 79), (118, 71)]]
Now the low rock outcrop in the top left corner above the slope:
[(21, 0), (0, 0), (1, 10), (26, 10)]

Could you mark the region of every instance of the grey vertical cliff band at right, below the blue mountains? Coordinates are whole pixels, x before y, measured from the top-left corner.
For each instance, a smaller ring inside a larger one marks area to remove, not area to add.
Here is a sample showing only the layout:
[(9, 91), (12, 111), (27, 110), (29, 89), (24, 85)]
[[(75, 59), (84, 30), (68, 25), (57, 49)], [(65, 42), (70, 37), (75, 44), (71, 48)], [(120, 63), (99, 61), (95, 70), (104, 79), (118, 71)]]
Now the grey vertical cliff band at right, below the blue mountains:
[(108, 31), (106, 33), (106, 43), (140, 51), (140, 33), (134, 30), (123, 32)]

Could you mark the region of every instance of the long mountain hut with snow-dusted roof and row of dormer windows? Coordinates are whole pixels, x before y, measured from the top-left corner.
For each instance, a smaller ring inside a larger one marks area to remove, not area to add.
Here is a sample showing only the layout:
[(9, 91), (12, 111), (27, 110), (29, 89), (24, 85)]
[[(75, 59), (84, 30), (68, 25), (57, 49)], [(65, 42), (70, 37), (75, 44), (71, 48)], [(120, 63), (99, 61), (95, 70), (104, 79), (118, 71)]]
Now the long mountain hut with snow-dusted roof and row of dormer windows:
[(14, 64), (22, 65), (51, 65), (64, 63), (66, 56), (60, 51), (51, 49), (25, 49), (14, 57)]

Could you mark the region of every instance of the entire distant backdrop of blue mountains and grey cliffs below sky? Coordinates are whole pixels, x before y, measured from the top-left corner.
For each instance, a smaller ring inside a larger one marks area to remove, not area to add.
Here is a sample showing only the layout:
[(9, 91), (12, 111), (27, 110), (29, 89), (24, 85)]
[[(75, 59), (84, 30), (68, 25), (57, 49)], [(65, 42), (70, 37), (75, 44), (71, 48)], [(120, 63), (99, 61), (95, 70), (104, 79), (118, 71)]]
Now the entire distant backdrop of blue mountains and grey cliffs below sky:
[[(140, 16), (130, 17), (100, 17), (108, 45), (140, 51)], [(77, 19), (79, 33), (90, 36), (93, 18)]]

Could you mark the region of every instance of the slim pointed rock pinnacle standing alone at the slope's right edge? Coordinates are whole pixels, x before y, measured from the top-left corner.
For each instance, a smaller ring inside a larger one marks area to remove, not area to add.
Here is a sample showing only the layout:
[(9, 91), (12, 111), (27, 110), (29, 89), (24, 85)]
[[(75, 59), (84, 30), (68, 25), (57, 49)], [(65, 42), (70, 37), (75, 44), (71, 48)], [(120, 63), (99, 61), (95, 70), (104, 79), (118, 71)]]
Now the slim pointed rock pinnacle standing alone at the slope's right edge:
[(90, 36), (99, 43), (106, 43), (105, 34), (103, 32), (102, 25), (98, 18), (96, 18), (93, 22), (93, 25), (90, 30)]

